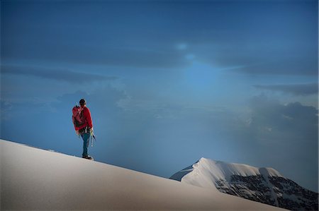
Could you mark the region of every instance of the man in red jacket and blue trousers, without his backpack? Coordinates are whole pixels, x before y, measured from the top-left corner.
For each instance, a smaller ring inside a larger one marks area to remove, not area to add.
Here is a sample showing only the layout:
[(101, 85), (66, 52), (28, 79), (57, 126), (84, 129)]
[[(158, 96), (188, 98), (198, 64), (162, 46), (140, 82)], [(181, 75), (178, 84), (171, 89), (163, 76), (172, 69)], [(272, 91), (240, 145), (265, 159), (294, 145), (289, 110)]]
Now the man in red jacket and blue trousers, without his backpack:
[(86, 107), (86, 101), (81, 99), (79, 101), (81, 108), (83, 109), (83, 116), (84, 116), (84, 124), (79, 128), (76, 128), (76, 132), (78, 135), (81, 135), (83, 139), (83, 153), (82, 157), (86, 159), (93, 159), (91, 156), (87, 154), (87, 147), (89, 147), (89, 138), (90, 135), (93, 133), (93, 124), (91, 119), (91, 112), (88, 107)]

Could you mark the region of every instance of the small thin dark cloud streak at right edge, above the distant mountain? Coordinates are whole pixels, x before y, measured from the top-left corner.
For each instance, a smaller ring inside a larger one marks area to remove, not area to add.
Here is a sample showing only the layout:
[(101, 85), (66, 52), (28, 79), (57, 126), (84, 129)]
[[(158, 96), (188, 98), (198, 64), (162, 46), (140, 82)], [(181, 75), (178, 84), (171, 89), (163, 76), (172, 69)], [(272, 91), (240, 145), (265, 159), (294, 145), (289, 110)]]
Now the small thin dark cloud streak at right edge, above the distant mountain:
[(318, 95), (318, 83), (306, 84), (281, 84), (281, 85), (254, 85), (254, 88), (270, 90), (274, 92), (284, 92), (291, 95)]

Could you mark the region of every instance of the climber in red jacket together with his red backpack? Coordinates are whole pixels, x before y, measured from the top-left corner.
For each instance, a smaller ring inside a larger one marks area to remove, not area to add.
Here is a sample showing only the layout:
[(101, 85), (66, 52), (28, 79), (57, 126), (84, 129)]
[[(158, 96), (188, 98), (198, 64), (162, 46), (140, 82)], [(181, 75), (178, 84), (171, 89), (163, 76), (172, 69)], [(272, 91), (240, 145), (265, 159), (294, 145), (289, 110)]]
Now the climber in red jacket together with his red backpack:
[(77, 135), (81, 135), (83, 139), (82, 157), (86, 159), (93, 159), (87, 153), (90, 137), (94, 137), (91, 112), (89, 108), (86, 107), (86, 101), (84, 99), (81, 99), (79, 104), (80, 106), (75, 106), (72, 109), (72, 121), (74, 123), (75, 132)]

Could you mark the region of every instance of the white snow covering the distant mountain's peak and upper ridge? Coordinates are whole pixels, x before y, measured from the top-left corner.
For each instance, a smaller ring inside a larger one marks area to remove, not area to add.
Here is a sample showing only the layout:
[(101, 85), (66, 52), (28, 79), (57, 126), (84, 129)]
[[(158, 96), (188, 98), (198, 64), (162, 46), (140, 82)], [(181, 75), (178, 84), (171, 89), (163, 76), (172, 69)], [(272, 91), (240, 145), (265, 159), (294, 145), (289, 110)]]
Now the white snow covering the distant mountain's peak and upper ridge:
[(257, 168), (247, 164), (221, 162), (203, 157), (193, 164), (192, 167), (193, 171), (189, 171), (189, 174), (184, 174), (181, 178), (175, 179), (194, 186), (213, 188), (216, 191), (216, 181), (230, 181), (230, 176), (232, 175), (281, 176), (278, 171), (272, 168)]

